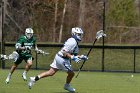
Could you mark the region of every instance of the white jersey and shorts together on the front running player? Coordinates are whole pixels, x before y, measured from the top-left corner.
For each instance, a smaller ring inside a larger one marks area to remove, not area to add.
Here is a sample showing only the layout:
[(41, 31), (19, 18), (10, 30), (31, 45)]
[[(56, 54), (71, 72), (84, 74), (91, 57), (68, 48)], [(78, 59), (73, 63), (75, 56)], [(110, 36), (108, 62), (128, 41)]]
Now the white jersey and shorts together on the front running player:
[(74, 38), (69, 38), (62, 49), (56, 54), (54, 61), (50, 66), (64, 71), (72, 71), (70, 59), (63, 57), (63, 51), (70, 54), (78, 54), (79, 48), (76, 40)]

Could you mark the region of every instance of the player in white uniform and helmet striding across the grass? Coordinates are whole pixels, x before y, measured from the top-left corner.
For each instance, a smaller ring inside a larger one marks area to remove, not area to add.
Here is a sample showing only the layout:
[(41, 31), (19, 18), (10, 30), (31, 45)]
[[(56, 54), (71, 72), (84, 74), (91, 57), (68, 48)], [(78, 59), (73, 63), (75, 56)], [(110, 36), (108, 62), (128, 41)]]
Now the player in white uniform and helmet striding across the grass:
[(53, 76), (59, 69), (62, 69), (68, 74), (64, 89), (69, 92), (75, 92), (75, 89), (70, 86), (70, 82), (74, 77), (74, 72), (72, 70), (70, 60), (78, 63), (81, 60), (87, 60), (88, 58), (85, 55), (78, 55), (78, 42), (80, 42), (83, 37), (82, 29), (79, 27), (72, 28), (71, 33), (72, 37), (65, 42), (62, 49), (56, 54), (54, 61), (50, 65), (51, 68), (48, 71), (43, 72), (35, 77), (30, 77), (30, 80), (28, 82), (28, 86), (30, 89), (32, 85), (39, 79)]

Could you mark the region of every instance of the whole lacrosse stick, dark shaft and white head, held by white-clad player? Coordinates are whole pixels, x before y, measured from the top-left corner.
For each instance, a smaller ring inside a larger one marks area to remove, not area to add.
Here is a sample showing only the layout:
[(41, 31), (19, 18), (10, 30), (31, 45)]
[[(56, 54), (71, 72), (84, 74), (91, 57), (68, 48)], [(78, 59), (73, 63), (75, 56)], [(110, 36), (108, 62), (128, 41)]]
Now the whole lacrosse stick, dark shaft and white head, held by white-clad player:
[[(88, 53), (87, 53), (87, 57), (89, 56), (91, 50), (93, 49), (93, 47), (94, 47), (96, 41), (99, 40), (100, 38), (102, 38), (103, 36), (106, 36), (106, 34), (104, 34), (103, 30), (99, 30), (99, 31), (96, 33), (96, 38), (95, 38), (95, 40), (94, 40), (94, 42), (93, 42), (92, 47), (89, 49), (89, 51), (88, 51)], [(77, 73), (77, 75), (76, 75), (76, 78), (78, 77), (78, 75), (79, 75), (79, 73), (80, 73), (80, 71), (81, 71), (83, 65), (85, 64), (85, 62), (86, 62), (86, 60), (84, 60), (84, 62), (82, 63), (81, 67), (79, 68), (79, 71), (78, 71), (78, 73)]]

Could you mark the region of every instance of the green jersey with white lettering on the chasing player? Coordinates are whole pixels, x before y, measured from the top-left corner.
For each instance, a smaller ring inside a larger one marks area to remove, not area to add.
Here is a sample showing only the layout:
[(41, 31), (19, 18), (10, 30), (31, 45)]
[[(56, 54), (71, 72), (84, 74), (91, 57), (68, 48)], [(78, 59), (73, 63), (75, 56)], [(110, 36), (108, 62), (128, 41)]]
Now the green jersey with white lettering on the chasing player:
[(25, 56), (25, 55), (31, 55), (31, 48), (35, 47), (36, 38), (33, 36), (31, 39), (27, 39), (25, 35), (21, 36), (17, 42), (16, 45), (20, 45), (21, 47), (28, 47), (29, 50), (16, 50), (19, 55)]

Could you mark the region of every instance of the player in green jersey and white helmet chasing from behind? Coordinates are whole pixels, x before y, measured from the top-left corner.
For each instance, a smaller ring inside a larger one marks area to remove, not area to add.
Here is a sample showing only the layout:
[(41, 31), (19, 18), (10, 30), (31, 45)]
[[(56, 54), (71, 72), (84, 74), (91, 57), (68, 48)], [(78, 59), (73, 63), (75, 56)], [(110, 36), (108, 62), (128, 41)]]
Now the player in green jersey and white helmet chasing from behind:
[(26, 66), (25, 66), (25, 70), (22, 74), (22, 78), (25, 81), (27, 80), (26, 74), (29, 71), (29, 69), (31, 68), (32, 60), (33, 60), (33, 57), (32, 57), (32, 54), (31, 54), (31, 49), (32, 48), (34, 48), (37, 53), (44, 53), (44, 51), (39, 50), (37, 48), (36, 38), (33, 36), (33, 29), (32, 28), (26, 28), (25, 35), (21, 36), (17, 40), (17, 42), (15, 44), (15, 48), (16, 48), (16, 51), (13, 51), (13, 53), (10, 54), (9, 56), (1, 55), (1, 59), (3, 59), (3, 60), (5, 60), (5, 59), (13, 59), (14, 60), (14, 64), (11, 67), (11, 70), (10, 70), (6, 80), (5, 80), (6, 84), (9, 83), (13, 72), (15, 71), (17, 66), (23, 60), (25, 60)]

